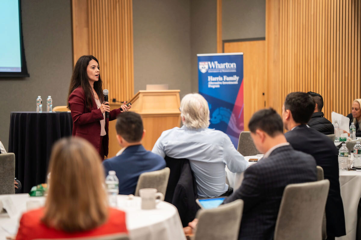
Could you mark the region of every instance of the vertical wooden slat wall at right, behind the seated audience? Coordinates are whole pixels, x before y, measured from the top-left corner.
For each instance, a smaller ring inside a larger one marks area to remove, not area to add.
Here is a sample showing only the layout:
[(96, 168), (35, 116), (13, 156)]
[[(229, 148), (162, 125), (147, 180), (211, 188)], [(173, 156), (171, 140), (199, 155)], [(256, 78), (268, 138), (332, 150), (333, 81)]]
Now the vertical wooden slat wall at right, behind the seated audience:
[(361, 0), (266, 0), (270, 107), (280, 112), (288, 93), (313, 91), (326, 118), (351, 112), (361, 98), (360, 9)]

